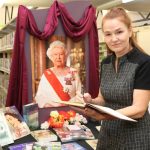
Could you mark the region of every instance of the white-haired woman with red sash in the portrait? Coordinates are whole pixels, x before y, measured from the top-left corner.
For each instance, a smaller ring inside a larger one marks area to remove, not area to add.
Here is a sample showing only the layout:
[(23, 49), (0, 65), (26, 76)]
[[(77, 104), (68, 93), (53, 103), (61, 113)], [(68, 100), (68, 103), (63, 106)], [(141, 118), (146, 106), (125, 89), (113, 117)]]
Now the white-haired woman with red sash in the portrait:
[(54, 41), (47, 50), (53, 67), (44, 71), (35, 100), (39, 107), (62, 106), (60, 101), (82, 101), (81, 83), (76, 69), (66, 66), (67, 50), (61, 41)]

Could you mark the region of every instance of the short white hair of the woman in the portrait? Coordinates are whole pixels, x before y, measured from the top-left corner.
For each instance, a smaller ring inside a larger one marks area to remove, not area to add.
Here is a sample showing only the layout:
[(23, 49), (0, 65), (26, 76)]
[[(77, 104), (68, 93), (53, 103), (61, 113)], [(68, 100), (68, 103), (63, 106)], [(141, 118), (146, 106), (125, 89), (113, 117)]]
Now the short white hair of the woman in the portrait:
[(66, 45), (63, 42), (57, 40), (50, 43), (49, 48), (47, 49), (46, 55), (48, 56), (49, 59), (52, 59), (53, 49), (56, 47), (63, 49), (65, 55), (67, 56), (68, 52), (66, 50)]

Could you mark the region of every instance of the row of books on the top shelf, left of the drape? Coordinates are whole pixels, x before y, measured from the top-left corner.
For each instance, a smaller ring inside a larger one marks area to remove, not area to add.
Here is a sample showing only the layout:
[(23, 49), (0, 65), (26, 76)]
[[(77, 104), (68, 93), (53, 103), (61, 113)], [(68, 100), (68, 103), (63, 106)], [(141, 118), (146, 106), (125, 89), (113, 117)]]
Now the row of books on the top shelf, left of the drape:
[(11, 32), (0, 39), (0, 51), (12, 47), (14, 44), (15, 32)]

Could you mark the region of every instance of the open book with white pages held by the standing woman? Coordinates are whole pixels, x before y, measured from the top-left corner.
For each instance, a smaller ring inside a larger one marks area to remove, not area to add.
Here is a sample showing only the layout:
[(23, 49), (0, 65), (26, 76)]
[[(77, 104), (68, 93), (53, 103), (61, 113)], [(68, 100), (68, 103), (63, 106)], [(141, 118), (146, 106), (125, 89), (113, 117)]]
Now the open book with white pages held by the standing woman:
[(66, 101), (59, 101), (58, 103), (62, 103), (62, 104), (66, 104), (66, 105), (71, 105), (71, 106), (75, 106), (75, 107), (80, 107), (80, 108), (85, 108), (85, 107), (90, 107), (92, 109), (95, 109), (101, 113), (106, 113), (108, 115), (111, 115), (113, 117), (116, 117), (118, 119), (122, 119), (122, 120), (127, 120), (127, 121), (133, 121), (133, 122), (137, 122), (136, 120), (129, 118), (109, 107), (104, 107), (104, 106), (100, 106), (100, 105), (95, 105), (95, 104), (91, 104), (91, 103), (74, 103), (74, 102), (66, 102)]

